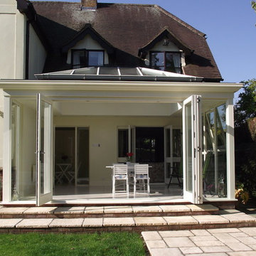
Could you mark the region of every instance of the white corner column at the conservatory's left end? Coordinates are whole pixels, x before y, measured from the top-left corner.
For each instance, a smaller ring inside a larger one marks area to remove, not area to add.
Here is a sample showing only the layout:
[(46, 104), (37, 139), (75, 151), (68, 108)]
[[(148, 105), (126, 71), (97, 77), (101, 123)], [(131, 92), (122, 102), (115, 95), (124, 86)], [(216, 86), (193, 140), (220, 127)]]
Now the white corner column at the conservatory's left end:
[(11, 99), (4, 97), (3, 202), (11, 201)]

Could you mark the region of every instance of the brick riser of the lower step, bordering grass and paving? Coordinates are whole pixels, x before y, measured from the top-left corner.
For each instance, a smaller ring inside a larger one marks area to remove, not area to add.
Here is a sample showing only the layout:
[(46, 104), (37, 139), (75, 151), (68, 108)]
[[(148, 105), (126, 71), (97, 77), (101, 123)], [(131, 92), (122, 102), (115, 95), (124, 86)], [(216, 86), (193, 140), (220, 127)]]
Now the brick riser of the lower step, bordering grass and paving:
[(256, 227), (255, 222), (241, 223), (218, 223), (196, 225), (139, 225), (139, 226), (105, 226), (99, 228), (0, 228), (0, 233), (101, 233), (101, 232), (137, 232), (164, 231), (164, 230), (193, 230), (211, 228), (246, 228)]

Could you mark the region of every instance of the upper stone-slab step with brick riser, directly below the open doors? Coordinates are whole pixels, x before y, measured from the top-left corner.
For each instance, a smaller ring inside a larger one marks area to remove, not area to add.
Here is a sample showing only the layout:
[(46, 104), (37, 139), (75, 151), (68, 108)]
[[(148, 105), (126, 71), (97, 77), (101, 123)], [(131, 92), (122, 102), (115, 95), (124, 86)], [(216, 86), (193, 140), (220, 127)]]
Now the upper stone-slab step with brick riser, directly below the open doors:
[(219, 208), (203, 205), (1, 207), (0, 218), (133, 218), (218, 214)]

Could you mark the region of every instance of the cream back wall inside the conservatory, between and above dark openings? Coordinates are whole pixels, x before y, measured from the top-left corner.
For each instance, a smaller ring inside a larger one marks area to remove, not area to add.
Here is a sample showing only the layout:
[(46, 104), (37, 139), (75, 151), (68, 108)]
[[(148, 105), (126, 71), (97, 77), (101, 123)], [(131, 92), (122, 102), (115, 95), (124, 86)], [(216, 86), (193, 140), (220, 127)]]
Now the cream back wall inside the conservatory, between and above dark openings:
[(170, 117), (54, 117), (55, 127), (89, 127), (90, 185), (111, 185), (111, 169), (117, 162), (117, 127), (181, 127), (181, 118)]

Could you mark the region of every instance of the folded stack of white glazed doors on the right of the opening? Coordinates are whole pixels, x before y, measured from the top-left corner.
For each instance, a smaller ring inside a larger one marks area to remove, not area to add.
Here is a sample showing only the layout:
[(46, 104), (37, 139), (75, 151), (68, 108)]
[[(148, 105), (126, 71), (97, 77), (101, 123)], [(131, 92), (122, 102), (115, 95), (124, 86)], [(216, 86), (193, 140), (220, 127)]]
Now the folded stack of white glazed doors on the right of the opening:
[(201, 97), (183, 102), (183, 193), (191, 203), (202, 203)]

